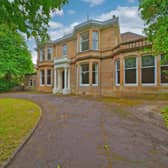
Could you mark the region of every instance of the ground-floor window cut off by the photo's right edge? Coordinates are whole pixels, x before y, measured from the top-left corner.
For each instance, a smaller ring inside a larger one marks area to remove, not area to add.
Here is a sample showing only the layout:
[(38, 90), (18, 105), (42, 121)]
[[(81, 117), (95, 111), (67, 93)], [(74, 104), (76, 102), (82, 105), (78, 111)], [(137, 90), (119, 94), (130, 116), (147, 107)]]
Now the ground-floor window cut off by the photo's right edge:
[(165, 56), (161, 56), (161, 84), (168, 84), (168, 60), (165, 59)]

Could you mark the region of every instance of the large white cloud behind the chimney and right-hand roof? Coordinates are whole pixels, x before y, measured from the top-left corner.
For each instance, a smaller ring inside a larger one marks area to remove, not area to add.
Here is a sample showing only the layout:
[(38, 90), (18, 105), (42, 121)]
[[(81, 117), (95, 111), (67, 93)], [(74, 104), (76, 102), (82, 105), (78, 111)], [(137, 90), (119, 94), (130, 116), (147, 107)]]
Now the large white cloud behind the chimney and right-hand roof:
[(113, 15), (119, 17), (121, 33), (131, 31), (143, 34), (144, 22), (140, 18), (137, 6), (118, 6), (115, 10), (96, 16), (95, 19), (104, 21), (111, 19)]

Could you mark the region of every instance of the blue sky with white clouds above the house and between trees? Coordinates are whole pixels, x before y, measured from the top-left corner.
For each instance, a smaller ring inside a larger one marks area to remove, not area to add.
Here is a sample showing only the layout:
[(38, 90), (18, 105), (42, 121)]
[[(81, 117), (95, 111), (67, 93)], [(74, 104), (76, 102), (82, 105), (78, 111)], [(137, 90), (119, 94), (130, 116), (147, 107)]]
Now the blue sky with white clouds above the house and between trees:
[[(61, 10), (51, 13), (48, 33), (51, 40), (56, 40), (71, 33), (73, 27), (88, 19), (108, 20), (113, 15), (119, 17), (120, 32), (143, 34), (144, 22), (138, 12), (138, 0), (69, 0)], [(36, 64), (37, 53), (33, 39), (27, 40)]]

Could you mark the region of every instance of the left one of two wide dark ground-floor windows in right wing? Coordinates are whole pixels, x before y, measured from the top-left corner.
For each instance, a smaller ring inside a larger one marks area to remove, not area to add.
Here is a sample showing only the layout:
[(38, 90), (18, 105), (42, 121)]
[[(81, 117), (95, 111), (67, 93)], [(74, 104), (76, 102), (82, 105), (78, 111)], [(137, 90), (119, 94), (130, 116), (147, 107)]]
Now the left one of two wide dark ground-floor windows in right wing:
[(125, 84), (137, 84), (136, 57), (125, 58)]

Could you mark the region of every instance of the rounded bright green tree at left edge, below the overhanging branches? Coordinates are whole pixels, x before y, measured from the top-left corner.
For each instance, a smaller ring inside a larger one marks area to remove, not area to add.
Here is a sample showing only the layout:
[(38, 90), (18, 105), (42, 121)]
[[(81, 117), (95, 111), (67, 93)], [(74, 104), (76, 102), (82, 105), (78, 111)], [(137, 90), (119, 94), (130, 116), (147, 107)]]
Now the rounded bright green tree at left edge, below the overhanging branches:
[[(31, 54), (24, 38), (6, 25), (0, 25), (0, 91), (19, 83), (27, 73), (33, 72)], [(9, 85), (9, 86), (8, 86)]]

